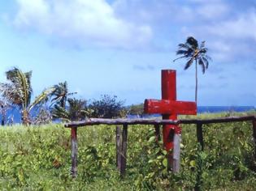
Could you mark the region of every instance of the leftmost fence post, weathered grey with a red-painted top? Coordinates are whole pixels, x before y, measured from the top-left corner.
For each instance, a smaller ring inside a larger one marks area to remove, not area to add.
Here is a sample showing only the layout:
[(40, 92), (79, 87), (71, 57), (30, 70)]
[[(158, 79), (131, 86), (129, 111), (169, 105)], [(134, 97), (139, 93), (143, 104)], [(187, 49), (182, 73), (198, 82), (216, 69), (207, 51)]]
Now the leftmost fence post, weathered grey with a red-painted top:
[(76, 178), (77, 176), (77, 136), (76, 136), (77, 128), (72, 127), (71, 129), (71, 137), (72, 137), (72, 177)]

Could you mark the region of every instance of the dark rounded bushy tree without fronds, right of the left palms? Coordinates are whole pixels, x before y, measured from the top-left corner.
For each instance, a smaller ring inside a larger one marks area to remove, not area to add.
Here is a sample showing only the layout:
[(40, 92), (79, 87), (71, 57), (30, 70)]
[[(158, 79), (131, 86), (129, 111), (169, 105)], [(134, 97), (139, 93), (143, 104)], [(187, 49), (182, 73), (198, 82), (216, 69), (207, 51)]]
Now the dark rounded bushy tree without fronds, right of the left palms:
[(116, 100), (117, 96), (102, 96), (101, 100), (93, 100), (89, 104), (92, 110), (90, 117), (115, 118), (124, 117), (124, 101)]

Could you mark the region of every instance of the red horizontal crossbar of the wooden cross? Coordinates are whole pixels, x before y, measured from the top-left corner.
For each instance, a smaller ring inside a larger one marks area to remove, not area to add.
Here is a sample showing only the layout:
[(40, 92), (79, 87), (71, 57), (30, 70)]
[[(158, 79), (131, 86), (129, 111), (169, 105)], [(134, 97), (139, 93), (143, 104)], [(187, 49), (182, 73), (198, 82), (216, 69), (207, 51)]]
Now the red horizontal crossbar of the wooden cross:
[(191, 101), (176, 101), (176, 100), (153, 100), (148, 99), (144, 102), (145, 113), (160, 113), (160, 114), (183, 114), (196, 115), (197, 104)]

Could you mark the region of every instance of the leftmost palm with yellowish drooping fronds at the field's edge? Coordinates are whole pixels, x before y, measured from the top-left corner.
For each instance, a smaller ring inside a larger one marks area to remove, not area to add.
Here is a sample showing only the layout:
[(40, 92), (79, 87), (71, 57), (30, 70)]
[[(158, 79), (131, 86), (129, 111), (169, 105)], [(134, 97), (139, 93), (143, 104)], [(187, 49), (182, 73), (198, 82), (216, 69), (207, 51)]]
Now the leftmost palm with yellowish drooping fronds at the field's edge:
[(21, 110), (22, 121), (24, 125), (30, 123), (29, 113), (39, 104), (42, 104), (54, 92), (55, 88), (50, 87), (42, 91), (39, 96), (31, 103), (32, 87), (31, 76), (32, 71), (23, 73), (20, 69), (14, 68), (8, 70), (7, 83), (0, 83), (0, 92), (2, 97), (7, 99), (12, 105), (18, 106)]

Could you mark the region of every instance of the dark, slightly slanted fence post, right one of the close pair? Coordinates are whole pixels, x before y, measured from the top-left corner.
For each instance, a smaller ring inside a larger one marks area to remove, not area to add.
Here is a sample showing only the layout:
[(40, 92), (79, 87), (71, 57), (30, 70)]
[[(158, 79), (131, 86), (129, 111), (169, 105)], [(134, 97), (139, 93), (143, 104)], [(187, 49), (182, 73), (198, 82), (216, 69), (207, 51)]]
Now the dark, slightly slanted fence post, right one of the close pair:
[(125, 175), (127, 137), (128, 137), (128, 125), (124, 125), (123, 126), (123, 134), (122, 134), (122, 154), (121, 154), (121, 167), (120, 167), (120, 176), (121, 177), (124, 177), (124, 175)]

